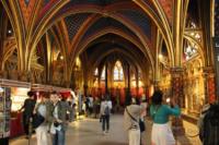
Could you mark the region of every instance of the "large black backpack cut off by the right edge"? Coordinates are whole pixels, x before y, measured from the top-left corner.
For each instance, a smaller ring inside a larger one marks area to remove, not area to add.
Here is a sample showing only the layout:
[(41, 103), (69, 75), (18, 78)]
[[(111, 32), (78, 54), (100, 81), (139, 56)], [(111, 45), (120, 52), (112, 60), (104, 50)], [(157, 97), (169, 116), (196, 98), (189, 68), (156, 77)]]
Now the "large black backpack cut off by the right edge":
[(219, 105), (210, 105), (200, 132), (204, 145), (219, 145)]

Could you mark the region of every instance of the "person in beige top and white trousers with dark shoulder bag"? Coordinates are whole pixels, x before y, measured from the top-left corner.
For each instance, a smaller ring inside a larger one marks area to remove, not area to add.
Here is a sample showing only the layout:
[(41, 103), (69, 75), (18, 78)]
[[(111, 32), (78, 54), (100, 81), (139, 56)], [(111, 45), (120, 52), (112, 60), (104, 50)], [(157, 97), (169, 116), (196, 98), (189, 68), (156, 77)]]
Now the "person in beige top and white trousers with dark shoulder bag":
[(124, 111), (124, 126), (128, 132), (129, 145), (140, 145), (139, 120), (142, 113), (142, 106), (136, 104), (136, 99), (128, 97), (127, 106)]

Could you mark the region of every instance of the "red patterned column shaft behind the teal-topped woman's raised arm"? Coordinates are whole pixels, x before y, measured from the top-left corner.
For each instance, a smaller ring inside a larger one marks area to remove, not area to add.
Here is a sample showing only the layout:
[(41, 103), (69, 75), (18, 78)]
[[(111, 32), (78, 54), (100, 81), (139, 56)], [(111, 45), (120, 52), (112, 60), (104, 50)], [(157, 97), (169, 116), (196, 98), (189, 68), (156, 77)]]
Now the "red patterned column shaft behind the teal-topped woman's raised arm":
[[(183, 106), (183, 69), (182, 68), (171, 68), (171, 87), (172, 97), (175, 98), (176, 104), (181, 107)], [(172, 129), (174, 135), (183, 135), (185, 129), (183, 128), (182, 118), (172, 119)]]

